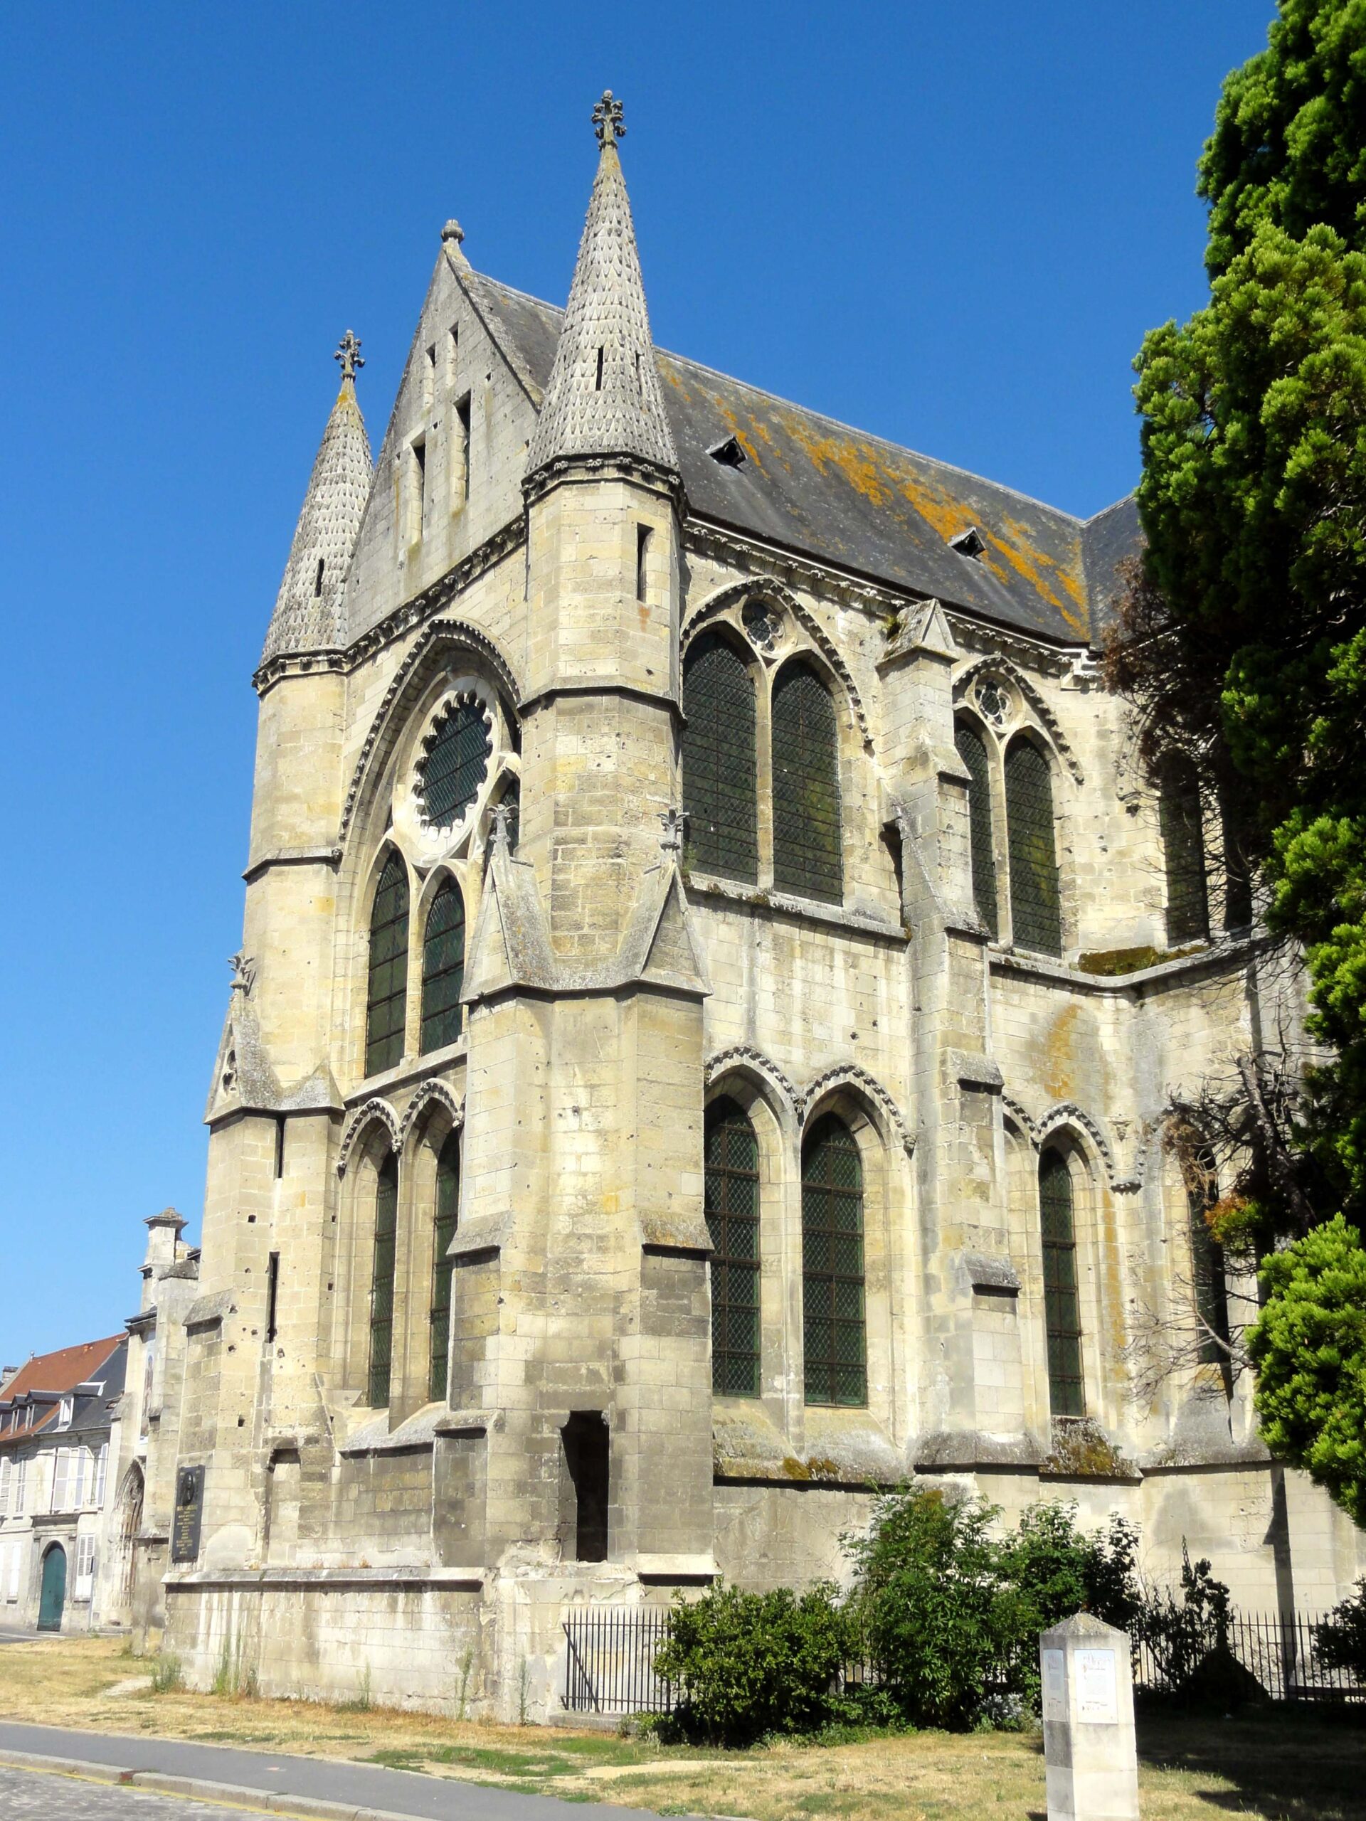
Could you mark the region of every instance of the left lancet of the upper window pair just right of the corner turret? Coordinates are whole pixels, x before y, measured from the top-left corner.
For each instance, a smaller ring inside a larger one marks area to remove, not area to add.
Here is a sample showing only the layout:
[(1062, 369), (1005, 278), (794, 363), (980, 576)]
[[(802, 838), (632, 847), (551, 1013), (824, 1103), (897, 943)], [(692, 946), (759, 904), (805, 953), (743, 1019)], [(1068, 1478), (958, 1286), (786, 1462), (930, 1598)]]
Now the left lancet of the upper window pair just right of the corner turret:
[(754, 674), (716, 632), (683, 666), (683, 809), (688, 861), (754, 885), (759, 869)]

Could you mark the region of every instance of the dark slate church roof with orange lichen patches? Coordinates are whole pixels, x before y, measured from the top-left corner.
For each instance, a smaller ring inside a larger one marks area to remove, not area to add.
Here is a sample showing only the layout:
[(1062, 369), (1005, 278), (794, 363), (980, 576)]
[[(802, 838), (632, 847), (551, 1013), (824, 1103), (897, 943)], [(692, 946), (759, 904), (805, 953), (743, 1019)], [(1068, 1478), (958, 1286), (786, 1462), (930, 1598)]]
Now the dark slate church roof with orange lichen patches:
[[(483, 273), (461, 280), (539, 406), (565, 313)], [(1051, 641), (1098, 639), (1115, 566), (1138, 548), (1133, 499), (1075, 519), (696, 361), (656, 359), (694, 515)], [(738, 468), (708, 453), (729, 439)], [(949, 546), (969, 528), (980, 557)]]

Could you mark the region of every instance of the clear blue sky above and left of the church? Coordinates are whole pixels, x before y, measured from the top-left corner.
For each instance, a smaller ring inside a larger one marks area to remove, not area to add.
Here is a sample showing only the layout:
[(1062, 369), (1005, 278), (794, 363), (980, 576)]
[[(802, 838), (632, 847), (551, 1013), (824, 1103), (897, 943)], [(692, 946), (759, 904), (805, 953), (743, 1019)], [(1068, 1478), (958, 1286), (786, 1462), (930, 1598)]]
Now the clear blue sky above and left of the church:
[(1078, 514), (1202, 300), (1269, 0), (11, 0), (0, 60), (0, 1362), (199, 1226), (250, 676), (353, 326), (384, 430), (457, 215), (563, 302), (610, 86), (656, 341)]

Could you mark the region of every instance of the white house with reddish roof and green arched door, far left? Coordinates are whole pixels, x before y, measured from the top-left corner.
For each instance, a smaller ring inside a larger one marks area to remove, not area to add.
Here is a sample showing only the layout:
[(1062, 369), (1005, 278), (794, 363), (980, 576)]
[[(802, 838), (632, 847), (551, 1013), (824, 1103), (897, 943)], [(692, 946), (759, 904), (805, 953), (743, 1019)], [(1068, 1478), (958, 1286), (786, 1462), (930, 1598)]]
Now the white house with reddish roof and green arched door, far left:
[(0, 1623), (87, 1632), (127, 1337), (38, 1353), (0, 1391)]

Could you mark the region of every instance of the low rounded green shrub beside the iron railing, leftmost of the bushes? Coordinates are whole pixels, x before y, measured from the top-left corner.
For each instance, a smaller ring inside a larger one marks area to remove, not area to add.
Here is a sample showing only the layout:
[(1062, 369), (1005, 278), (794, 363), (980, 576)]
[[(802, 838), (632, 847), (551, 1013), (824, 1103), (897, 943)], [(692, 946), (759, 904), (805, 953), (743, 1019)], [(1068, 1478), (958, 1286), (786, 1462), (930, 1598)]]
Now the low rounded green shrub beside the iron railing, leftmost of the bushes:
[(687, 1737), (750, 1745), (852, 1717), (840, 1695), (847, 1650), (849, 1624), (831, 1586), (801, 1595), (716, 1586), (674, 1601), (654, 1670), (683, 1690), (674, 1719)]

